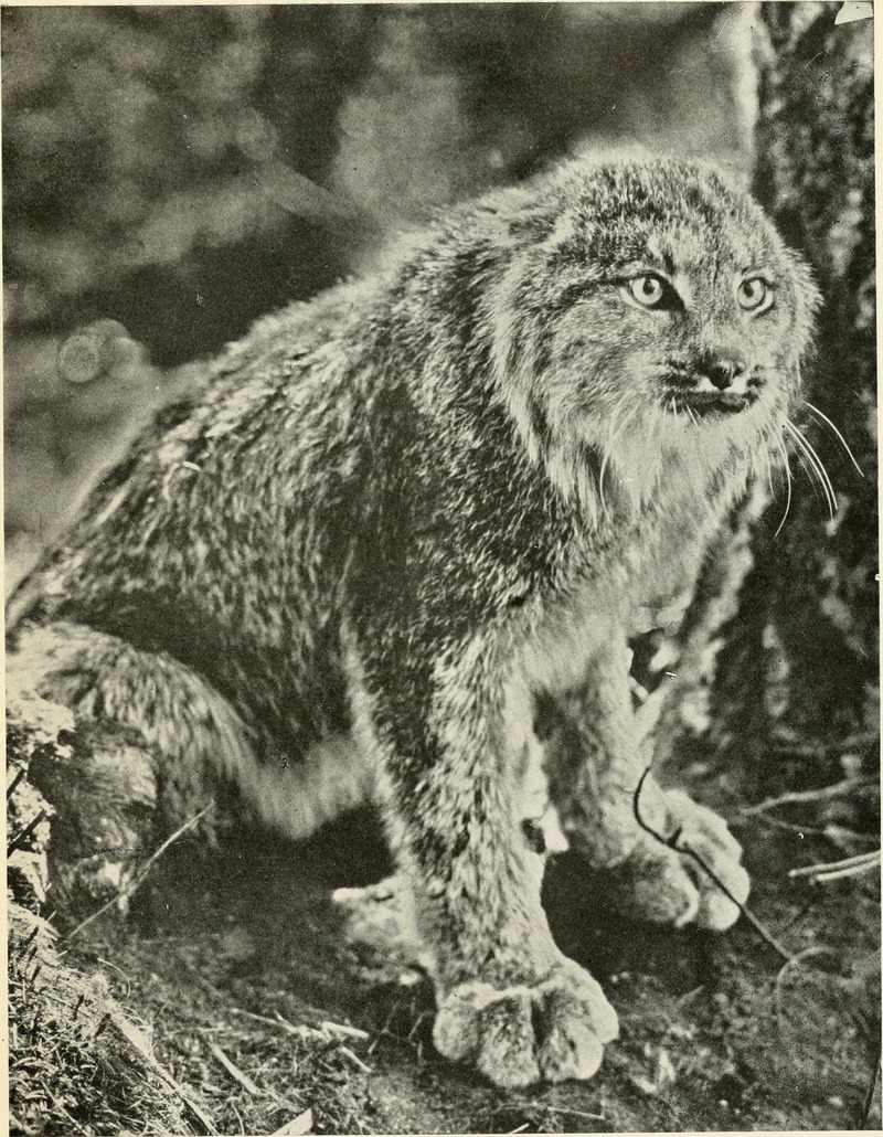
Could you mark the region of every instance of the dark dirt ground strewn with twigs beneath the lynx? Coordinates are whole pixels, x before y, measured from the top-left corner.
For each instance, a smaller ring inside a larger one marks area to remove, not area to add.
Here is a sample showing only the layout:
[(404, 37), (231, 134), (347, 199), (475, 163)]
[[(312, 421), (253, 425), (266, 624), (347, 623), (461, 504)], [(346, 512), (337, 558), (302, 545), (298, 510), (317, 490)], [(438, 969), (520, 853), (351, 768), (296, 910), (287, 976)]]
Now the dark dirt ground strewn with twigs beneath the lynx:
[(214, 852), (174, 846), (128, 919), (94, 921), (67, 961), (105, 973), (222, 1134), (308, 1109), (315, 1132), (880, 1129), (878, 874), (789, 879), (842, 855), (814, 808), (726, 811), (750, 907), (791, 962), (745, 919), (725, 936), (630, 923), (599, 875), (551, 862), (556, 937), (622, 1024), (588, 1084), (505, 1093), (435, 1055), (426, 979), (348, 940), (331, 898), (389, 870), (365, 813), (298, 846), (244, 829)]

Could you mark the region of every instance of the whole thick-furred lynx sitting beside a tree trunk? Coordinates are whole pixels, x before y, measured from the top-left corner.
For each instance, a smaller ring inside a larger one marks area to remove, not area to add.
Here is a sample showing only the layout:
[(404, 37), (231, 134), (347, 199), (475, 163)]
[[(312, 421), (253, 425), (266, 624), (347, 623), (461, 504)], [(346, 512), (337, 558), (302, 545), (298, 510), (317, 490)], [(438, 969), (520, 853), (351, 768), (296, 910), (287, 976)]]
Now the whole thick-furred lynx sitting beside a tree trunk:
[(439, 1051), (502, 1086), (588, 1078), (617, 1022), (540, 904), (534, 699), (591, 692), (563, 815), (628, 911), (728, 927), (723, 821), (645, 788), (731, 897), (633, 816), (627, 638), (782, 460), (816, 300), (689, 164), (457, 208), (206, 365), (25, 583), (10, 682), (139, 731), (169, 813), (213, 779), (295, 837), (382, 803)]

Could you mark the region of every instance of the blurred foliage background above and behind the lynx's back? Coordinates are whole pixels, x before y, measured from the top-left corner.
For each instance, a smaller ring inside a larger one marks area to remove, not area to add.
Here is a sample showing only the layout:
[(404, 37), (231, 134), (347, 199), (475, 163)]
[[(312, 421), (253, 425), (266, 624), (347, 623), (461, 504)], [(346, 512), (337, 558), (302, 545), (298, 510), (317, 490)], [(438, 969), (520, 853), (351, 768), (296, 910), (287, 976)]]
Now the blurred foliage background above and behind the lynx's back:
[[(714, 3), (6, 9), (8, 587), (180, 389), (167, 368), (398, 227), (598, 144), (747, 177), (745, 32)], [(132, 340), (59, 372), (107, 318)]]

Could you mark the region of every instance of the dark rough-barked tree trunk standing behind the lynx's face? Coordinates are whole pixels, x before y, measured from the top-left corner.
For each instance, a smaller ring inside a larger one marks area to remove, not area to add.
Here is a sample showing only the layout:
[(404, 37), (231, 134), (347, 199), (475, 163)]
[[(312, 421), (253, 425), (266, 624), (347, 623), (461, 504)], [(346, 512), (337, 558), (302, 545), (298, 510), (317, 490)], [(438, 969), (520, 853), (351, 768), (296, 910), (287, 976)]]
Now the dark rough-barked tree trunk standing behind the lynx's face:
[(758, 5), (753, 185), (824, 296), (795, 421), (836, 507), (793, 446), (784, 523), (786, 487), (758, 487), (709, 562), (657, 731), (663, 756), (676, 749), (703, 688), (713, 749), (761, 780), (772, 755), (860, 753), (878, 729), (873, 31), (835, 24), (840, 7)]

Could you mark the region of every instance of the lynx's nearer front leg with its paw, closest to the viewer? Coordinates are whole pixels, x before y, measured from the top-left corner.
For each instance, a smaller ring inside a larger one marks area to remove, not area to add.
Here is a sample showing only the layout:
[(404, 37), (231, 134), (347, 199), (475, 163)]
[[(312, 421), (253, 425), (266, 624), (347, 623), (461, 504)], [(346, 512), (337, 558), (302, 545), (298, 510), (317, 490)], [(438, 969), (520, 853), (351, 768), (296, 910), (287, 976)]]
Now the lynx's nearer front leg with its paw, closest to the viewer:
[[(386, 634), (363, 647), (353, 709), (378, 753), (389, 828), (434, 955), (434, 1040), (514, 1087), (589, 1078), (616, 1014), (552, 941), (543, 858), (519, 816), (513, 688), (488, 638), (424, 646)], [(530, 716), (525, 719), (530, 723)]]

